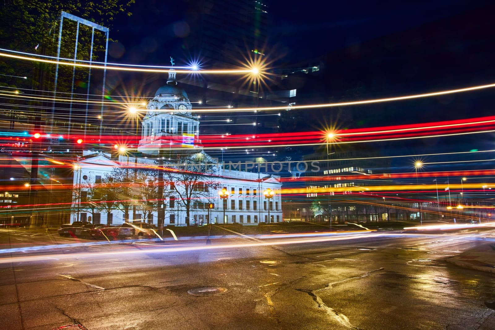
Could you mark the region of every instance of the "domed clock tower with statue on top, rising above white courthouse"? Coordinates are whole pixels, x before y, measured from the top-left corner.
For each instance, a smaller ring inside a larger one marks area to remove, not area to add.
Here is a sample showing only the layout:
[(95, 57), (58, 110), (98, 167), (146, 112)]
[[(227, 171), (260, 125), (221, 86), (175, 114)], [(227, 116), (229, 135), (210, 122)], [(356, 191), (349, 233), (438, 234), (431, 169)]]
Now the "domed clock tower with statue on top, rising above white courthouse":
[(193, 107), (186, 91), (178, 86), (175, 74), (173, 68), (168, 71), (167, 84), (156, 91), (146, 106), (138, 146), (144, 154), (159, 155), (160, 149), (174, 147), (200, 147), (199, 120), (191, 114)]

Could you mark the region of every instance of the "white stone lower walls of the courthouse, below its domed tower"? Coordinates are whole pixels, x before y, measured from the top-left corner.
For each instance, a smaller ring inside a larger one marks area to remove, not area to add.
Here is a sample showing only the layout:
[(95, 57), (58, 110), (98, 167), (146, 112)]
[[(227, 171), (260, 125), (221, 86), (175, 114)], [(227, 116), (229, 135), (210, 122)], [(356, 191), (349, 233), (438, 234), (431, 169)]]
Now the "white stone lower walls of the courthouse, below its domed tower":
[[(129, 158), (129, 164), (134, 164), (134, 161), (134, 157)], [(87, 208), (87, 204), (85, 203), (80, 205), (78, 212), (77, 202), (79, 201), (79, 187), (81, 187), (81, 191), (84, 191), (87, 189), (86, 187), (98, 184), (99, 180), (110, 175), (114, 168), (126, 165), (126, 156), (120, 156), (118, 160), (113, 161), (108, 155), (103, 153), (87, 155), (84, 159), (77, 162), (78, 169), (74, 171), (74, 205), (71, 222), (78, 219), (79, 213), (79, 220), (91, 220), (92, 222), (99, 222), (101, 224), (107, 223), (108, 219), (106, 213), (97, 213), (99, 215), (95, 216), (93, 215), (92, 210)], [(138, 158), (138, 167), (146, 165), (156, 166), (157, 161), (150, 158)], [(133, 169), (129, 169), (129, 172), (129, 177), (132, 178)], [(282, 198), (279, 193), (281, 182), (279, 181), (279, 178), (280, 177), (278, 176), (262, 173), (259, 174), (258, 178), (257, 173), (233, 171), (222, 169), (221, 167), (217, 168), (215, 178), (212, 179), (218, 183), (216, 185), (217, 188), (209, 189), (208, 196), (193, 197), (192, 207), (190, 209), (190, 224), (201, 225), (206, 223), (208, 218), (208, 203), (214, 203), (214, 208), (209, 211), (211, 216), (210, 222), (217, 224), (224, 223), (224, 203), (218, 195), (218, 190), (223, 188), (229, 191), (229, 196), (225, 202), (225, 217), (227, 223), (257, 225), (260, 222), (268, 222), (268, 207), (270, 207), (271, 222), (282, 222)], [(276, 191), (273, 198), (268, 200), (263, 195), (265, 189)], [(169, 185), (165, 185), (164, 187), (164, 192), (166, 192), (166, 194), (168, 194), (167, 190), (170, 190)], [(173, 197), (175, 197), (175, 199)], [(173, 197), (167, 197), (163, 202), (165, 207), (164, 225), (185, 226), (186, 208), (181, 201), (177, 199), (177, 196)], [(171, 201), (171, 199), (173, 201)], [(124, 212), (122, 210), (115, 209), (111, 214), (112, 225), (118, 225), (124, 222)], [(97, 217), (98, 219), (96, 219)], [(141, 218), (133, 219), (131, 207), (129, 210), (129, 221), (134, 220), (141, 221)], [(144, 219), (143, 221), (157, 225), (157, 211), (152, 212), (152, 219)]]

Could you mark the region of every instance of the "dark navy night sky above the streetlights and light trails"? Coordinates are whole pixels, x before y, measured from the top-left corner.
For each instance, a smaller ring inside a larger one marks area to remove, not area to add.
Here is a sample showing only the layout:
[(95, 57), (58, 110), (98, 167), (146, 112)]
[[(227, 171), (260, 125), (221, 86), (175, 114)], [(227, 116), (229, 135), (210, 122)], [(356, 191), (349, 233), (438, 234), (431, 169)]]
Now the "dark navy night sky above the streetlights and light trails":
[[(276, 65), (290, 67), (291, 63), (326, 55), (332, 66), (332, 75), (325, 77), (322, 90), (326, 101), (486, 84), (495, 74), (490, 64), (495, 51), (490, 17), (495, 7), (490, 1), (328, 1), (310, 7), (291, 0), (270, 1), (268, 5), (268, 44), (272, 54), (282, 55)], [(187, 62), (196, 52), (185, 49), (184, 39), (177, 37), (174, 26), (187, 23), (190, 8), (188, 1), (138, 1), (133, 15), (121, 16), (110, 32), (118, 43), (110, 46), (109, 61), (168, 65), (169, 56), (173, 56), (178, 64)], [(373, 127), (491, 115), (492, 94), (488, 90), (348, 107), (344, 111), (351, 113), (351, 120), (344, 125)], [(319, 101), (322, 95), (308, 95), (304, 101), (311, 103), (316, 98)], [(321, 129), (322, 113), (308, 113), (314, 118), (309, 122), (316, 124), (304, 129)], [(369, 147), (385, 155), (468, 151), (491, 149), (493, 139), (491, 134), (477, 134)], [(485, 158), (483, 154), (474, 159)], [(456, 159), (464, 156), (457, 155)], [(398, 170), (409, 163), (409, 159), (396, 159), (393, 166)]]

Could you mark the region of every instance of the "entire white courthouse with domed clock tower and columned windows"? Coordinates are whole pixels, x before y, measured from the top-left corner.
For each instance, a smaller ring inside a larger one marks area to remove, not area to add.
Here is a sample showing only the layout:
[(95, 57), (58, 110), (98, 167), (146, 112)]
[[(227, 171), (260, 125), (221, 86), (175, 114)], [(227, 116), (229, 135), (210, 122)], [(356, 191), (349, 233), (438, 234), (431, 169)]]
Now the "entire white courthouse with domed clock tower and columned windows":
[[(142, 135), (139, 142), (137, 156), (118, 155), (112, 157), (110, 153), (87, 150), (83, 157), (76, 163), (74, 171), (74, 204), (71, 214), (71, 222), (87, 220), (93, 223), (121, 224), (124, 221), (141, 221), (139, 210), (126, 213), (122, 208), (115, 208), (111, 212), (95, 212), (91, 209), (91, 203), (99, 201), (87, 201), (87, 191), (91, 186), (99, 185), (104, 178), (108, 178), (112, 170), (119, 167), (136, 166), (136, 168), (154, 168), (160, 165), (161, 159), (175, 159), (178, 151), (176, 148), (188, 146), (188, 150), (180, 153), (198, 154), (202, 158), (209, 157), (201, 147), (198, 140), (199, 117), (192, 114), (192, 105), (188, 95), (182, 89), (172, 69), (165, 86), (160, 87), (154, 97), (147, 104), (147, 113), (143, 118)], [(174, 110), (168, 112), (166, 110)], [(166, 162), (166, 160), (165, 160)], [(166, 166), (166, 165), (165, 165)], [(210, 223), (241, 223), (244, 225), (256, 225), (260, 222), (282, 222), (282, 198), (280, 195), (280, 177), (264, 173), (252, 173), (227, 169), (222, 164), (212, 166), (209, 173), (204, 173), (205, 180), (214, 182), (200, 195), (194, 197), (190, 207), (190, 224)], [(129, 169), (130, 173), (134, 169)], [(129, 175), (132, 181), (132, 174)], [(177, 174), (175, 182), (164, 183), (163, 203), (158, 207), (164, 208), (164, 225), (186, 225), (186, 208), (181, 200), (178, 200), (181, 187), (181, 175)], [(179, 187), (179, 191), (174, 190)], [(228, 197), (222, 198), (218, 191), (225, 189)], [(266, 198), (263, 191), (271, 189), (275, 194)], [(193, 199), (193, 198), (192, 198)], [(77, 207), (79, 201), (80, 203)], [(213, 209), (208, 204), (213, 203)], [(132, 204), (132, 202), (131, 202)], [(157, 203), (158, 205), (159, 203)], [(133, 206), (131, 206), (131, 209)], [(225, 214), (225, 218), (224, 218)], [(158, 225), (157, 209), (149, 212), (148, 223)]]

